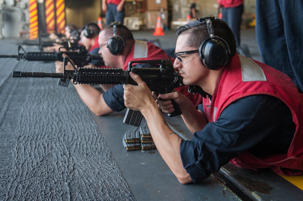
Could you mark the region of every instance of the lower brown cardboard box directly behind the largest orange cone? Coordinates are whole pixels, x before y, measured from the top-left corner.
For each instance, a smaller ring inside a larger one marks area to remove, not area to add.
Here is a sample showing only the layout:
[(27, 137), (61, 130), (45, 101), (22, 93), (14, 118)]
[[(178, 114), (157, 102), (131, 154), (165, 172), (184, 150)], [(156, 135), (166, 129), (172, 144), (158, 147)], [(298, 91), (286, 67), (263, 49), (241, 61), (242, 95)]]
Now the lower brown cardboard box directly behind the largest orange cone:
[(146, 11), (145, 12), (145, 24), (147, 29), (155, 29), (157, 24), (158, 16), (161, 17), (161, 23), (163, 23), (166, 27), (168, 25), (168, 11), (164, 10), (160, 11)]

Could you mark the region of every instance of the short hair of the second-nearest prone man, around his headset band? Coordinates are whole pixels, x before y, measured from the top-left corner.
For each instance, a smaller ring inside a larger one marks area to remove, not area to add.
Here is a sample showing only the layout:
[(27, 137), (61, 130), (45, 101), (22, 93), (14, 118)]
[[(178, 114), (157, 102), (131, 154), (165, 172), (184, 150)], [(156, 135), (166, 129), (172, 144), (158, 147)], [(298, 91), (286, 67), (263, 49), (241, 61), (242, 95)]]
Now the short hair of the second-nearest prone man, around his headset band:
[[(102, 31), (105, 31), (105, 36), (108, 38), (114, 35), (113, 27), (111, 25), (105, 26)], [(118, 24), (116, 35), (121, 37), (124, 42), (127, 40), (134, 40), (132, 32), (123, 24)]]

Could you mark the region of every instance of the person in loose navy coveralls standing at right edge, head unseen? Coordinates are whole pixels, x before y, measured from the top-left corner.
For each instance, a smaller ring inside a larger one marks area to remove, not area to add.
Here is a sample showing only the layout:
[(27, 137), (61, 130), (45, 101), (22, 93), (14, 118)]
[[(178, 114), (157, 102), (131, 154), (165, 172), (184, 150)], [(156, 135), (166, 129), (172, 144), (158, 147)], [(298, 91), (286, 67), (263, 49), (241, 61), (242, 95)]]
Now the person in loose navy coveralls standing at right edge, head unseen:
[(256, 38), (262, 61), (303, 91), (303, 2), (256, 0)]

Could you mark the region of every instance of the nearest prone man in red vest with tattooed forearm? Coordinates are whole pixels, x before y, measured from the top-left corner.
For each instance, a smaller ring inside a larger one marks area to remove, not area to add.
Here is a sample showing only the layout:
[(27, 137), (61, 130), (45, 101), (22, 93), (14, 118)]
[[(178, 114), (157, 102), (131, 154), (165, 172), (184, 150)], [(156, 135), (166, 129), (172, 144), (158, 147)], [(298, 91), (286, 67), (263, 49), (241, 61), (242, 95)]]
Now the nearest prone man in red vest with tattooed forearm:
[[(283, 175), (303, 170), (303, 94), (284, 73), (236, 53), (226, 22), (202, 17), (177, 29), (174, 68), (185, 85), (200, 88), (198, 109), (182, 94), (152, 92), (138, 75), (138, 86), (124, 85), (125, 106), (141, 111), (161, 157), (181, 183), (201, 182), (231, 162)], [(164, 101), (164, 100), (166, 101)], [(163, 112), (174, 99), (193, 140), (171, 130)]]

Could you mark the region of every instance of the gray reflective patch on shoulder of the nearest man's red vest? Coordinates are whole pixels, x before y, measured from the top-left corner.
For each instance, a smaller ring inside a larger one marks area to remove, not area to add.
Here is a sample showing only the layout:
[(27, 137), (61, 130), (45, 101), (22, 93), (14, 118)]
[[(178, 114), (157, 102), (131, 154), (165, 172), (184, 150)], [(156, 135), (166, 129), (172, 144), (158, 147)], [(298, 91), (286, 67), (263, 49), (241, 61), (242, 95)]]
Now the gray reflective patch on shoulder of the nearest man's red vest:
[(241, 62), (242, 81), (266, 81), (262, 68), (250, 58), (239, 55)]

